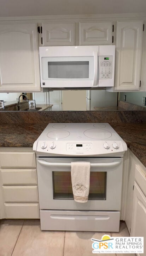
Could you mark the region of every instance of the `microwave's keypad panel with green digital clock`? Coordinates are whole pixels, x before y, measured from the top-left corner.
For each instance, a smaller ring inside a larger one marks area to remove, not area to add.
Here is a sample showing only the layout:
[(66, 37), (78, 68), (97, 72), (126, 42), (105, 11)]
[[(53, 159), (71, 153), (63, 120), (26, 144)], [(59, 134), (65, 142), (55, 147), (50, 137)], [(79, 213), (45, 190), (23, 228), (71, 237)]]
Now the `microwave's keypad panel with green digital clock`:
[(99, 80), (113, 78), (113, 56), (99, 56)]

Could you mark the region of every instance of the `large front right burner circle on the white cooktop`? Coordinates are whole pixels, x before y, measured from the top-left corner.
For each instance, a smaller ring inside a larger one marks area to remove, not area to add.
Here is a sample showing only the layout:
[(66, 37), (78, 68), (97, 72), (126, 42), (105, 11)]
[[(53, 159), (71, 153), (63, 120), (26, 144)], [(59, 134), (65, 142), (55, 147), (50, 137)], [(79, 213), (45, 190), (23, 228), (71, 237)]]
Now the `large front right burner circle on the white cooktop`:
[(112, 136), (110, 132), (104, 129), (89, 129), (84, 131), (84, 135), (90, 139), (108, 139)]

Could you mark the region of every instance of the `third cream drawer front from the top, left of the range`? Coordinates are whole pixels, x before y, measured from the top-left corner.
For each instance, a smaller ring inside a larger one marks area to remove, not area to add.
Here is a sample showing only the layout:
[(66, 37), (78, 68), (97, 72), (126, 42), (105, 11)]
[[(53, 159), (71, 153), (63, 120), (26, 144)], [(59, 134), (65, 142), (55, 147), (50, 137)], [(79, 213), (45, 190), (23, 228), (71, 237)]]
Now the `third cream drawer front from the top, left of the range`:
[(5, 202), (38, 202), (37, 186), (3, 186)]

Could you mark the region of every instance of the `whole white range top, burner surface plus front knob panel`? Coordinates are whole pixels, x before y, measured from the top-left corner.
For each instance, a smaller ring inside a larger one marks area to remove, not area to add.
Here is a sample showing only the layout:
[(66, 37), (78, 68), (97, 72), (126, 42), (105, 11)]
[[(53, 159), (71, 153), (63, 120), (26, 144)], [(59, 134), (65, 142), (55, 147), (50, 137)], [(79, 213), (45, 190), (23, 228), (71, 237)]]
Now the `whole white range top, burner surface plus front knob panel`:
[(33, 149), (48, 157), (123, 157), (127, 145), (108, 123), (49, 123)]

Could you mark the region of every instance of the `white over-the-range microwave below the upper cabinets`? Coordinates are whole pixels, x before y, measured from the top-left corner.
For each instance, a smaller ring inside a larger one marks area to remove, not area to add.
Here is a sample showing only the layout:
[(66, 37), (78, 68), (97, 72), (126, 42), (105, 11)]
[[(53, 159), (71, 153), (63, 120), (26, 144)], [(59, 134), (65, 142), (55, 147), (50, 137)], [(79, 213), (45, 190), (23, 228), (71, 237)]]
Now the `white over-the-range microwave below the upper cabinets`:
[(113, 87), (115, 46), (43, 46), (40, 52), (41, 87)]

